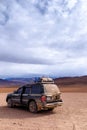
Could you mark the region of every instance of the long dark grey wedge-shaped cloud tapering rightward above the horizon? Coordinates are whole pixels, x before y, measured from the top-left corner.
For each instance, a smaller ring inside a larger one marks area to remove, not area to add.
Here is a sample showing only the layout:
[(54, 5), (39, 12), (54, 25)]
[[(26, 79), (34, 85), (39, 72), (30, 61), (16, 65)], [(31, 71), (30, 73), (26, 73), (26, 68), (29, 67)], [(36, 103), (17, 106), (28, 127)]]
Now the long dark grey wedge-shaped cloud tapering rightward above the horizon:
[[(11, 48), (12, 49), (12, 48)], [(4, 51), (4, 53), (3, 53)], [(13, 52), (14, 51), (14, 52)], [(33, 53), (33, 54), (32, 54)], [(13, 50), (1, 50), (0, 51), (0, 61), (12, 62), (12, 63), (24, 63), (24, 64), (53, 64), (49, 59), (40, 57), (36, 52), (22, 49), (13, 49)]]

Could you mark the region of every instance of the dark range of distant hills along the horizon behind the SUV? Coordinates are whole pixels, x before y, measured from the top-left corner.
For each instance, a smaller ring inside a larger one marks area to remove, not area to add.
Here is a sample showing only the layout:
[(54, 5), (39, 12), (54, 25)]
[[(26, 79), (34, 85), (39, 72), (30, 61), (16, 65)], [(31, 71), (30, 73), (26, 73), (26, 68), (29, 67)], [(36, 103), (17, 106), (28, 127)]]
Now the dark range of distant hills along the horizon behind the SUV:
[[(0, 79), (0, 87), (15, 87), (22, 86), (27, 83), (32, 83), (37, 77), (33, 78), (9, 78), (9, 79)], [(81, 77), (62, 77), (55, 78), (54, 82), (58, 86), (75, 86), (75, 85), (86, 85), (87, 86), (87, 76)]]

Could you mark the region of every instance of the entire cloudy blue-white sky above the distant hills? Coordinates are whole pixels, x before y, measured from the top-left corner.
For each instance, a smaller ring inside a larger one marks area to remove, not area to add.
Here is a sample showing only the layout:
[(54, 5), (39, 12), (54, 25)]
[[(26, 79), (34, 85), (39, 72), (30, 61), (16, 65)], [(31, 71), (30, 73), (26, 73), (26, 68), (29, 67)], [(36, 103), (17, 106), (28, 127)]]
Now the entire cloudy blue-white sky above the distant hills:
[(87, 0), (0, 0), (0, 77), (87, 75)]

